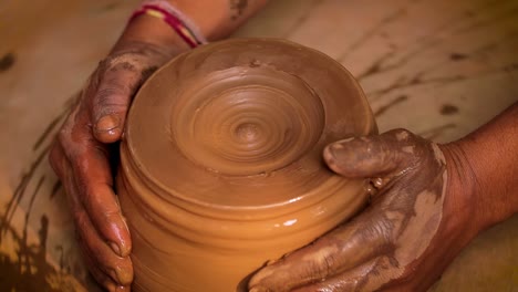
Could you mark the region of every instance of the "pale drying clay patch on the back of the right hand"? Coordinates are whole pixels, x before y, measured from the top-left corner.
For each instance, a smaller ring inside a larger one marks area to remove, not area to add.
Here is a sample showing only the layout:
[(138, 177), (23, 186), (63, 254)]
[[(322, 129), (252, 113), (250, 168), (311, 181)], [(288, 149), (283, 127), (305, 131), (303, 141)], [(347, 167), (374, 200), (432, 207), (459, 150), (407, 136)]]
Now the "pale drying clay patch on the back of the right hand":
[[(404, 132), (406, 133), (406, 132)], [(403, 137), (405, 136), (405, 137)], [(407, 135), (396, 135), (397, 140), (408, 139)], [(411, 146), (405, 146), (411, 147)], [(403, 152), (406, 152), (403, 147)], [(415, 147), (415, 146), (412, 146)], [(412, 190), (400, 190), (403, 195), (394, 197), (394, 204), (387, 204), (386, 212), (383, 220), (386, 220), (390, 229), (385, 230), (386, 236), (392, 238), (394, 249), (392, 251), (381, 252), (380, 258), (392, 258), (388, 264), (375, 264), (369, 273), (361, 275), (366, 279), (361, 288), (361, 291), (374, 291), (380, 289), (391, 280), (402, 277), (406, 268), (415, 260), (417, 260), (431, 244), (441, 225), (443, 217), (443, 205), (445, 197), (446, 186), (446, 168), (445, 158), (437, 145), (431, 144), (431, 157), (419, 157), (421, 159), (431, 160), (427, 174), (417, 175), (417, 180), (408, 182), (412, 188), (414, 186), (426, 186), (424, 180), (429, 180), (431, 184), (425, 189), (417, 194), (412, 194)], [(411, 153), (413, 154), (413, 153)], [(417, 170), (418, 171), (418, 170)], [(422, 182), (423, 181), (423, 182)], [(404, 194), (407, 191), (407, 194)], [(397, 200), (412, 199), (411, 204), (401, 204)], [(400, 207), (397, 207), (400, 206)], [(402, 209), (400, 209), (402, 208)], [(386, 225), (384, 225), (386, 226)]]

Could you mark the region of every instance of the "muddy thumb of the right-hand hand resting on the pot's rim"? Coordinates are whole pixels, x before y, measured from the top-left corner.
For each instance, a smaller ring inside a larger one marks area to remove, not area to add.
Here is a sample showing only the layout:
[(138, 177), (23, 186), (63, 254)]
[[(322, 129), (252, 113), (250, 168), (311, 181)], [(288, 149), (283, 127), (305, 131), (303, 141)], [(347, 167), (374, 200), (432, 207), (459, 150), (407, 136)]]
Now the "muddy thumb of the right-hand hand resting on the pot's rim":
[(330, 144), (323, 156), (335, 173), (351, 178), (385, 177), (412, 167), (419, 155), (419, 137), (405, 129)]

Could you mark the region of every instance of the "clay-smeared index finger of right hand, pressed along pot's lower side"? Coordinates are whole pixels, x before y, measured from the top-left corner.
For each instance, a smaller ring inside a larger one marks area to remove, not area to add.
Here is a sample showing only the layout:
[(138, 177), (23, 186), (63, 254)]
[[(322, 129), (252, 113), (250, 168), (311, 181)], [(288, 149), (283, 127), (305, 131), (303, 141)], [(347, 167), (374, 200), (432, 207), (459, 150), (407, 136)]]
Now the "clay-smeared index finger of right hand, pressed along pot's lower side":
[(333, 277), (385, 252), (391, 247), (376, 220), (367, 210), (356, 221), (341, 226), (314, 243), (261, 269), (250, 280), (250, 291), (290, 291)]

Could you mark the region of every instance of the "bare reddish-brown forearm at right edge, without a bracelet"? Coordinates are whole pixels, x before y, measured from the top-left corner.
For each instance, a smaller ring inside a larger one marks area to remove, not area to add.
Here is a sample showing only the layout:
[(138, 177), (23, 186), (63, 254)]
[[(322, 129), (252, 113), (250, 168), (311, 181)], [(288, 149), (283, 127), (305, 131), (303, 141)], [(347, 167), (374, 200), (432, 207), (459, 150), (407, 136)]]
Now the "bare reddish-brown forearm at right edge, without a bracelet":
[(477, 229), (518, 212), (518, 103), (452, 146), (465, 159), (460, 191), (470, 192)]

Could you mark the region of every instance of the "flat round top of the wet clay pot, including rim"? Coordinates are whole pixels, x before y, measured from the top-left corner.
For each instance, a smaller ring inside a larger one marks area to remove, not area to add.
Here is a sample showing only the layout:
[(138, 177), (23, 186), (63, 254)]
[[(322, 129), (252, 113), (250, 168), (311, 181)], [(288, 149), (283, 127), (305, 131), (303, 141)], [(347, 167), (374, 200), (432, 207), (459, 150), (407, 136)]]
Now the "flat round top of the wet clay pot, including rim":
[(361, 88), (331, 58), (232, 39), (158, 70), (133, 102), (125, 143), (164, 199), (245, 210), (346, 184), (324, 166), (323, 147), (375, 131)]

